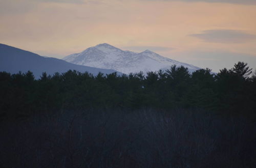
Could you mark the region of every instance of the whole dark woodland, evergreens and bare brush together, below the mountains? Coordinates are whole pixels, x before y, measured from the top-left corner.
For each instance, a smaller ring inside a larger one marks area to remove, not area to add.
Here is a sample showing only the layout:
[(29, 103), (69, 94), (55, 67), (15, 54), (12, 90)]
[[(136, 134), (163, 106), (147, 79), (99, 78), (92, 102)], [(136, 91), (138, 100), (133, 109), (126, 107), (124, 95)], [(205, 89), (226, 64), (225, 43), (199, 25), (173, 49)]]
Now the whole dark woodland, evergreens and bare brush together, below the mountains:
[(129, 75), (0, 72), (1, 167), (255, 167), (246, 63)]

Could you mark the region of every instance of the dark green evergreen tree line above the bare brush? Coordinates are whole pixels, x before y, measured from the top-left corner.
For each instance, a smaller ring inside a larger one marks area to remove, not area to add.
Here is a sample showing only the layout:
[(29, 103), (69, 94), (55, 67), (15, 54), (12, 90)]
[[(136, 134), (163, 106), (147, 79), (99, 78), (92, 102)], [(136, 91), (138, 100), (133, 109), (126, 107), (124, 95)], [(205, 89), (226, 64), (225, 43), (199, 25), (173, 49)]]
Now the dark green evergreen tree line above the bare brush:
[(31, 115), (54, 110), (200, 108), (229, 114), (256, 111), (256, 77), (238, 62), (219, 73), (189, 73), (176, 65), (168, 70), (94, 76), (69, 70), (35, 79), (33, 73), (0, 72), (1, 116)]

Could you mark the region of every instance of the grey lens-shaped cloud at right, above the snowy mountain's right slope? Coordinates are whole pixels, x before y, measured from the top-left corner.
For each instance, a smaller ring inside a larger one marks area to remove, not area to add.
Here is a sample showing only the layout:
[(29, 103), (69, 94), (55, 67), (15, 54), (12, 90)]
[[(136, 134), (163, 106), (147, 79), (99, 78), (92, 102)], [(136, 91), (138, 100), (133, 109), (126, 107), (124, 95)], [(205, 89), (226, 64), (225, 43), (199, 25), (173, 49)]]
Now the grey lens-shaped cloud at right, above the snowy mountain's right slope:
[(203, 33), (189, 36), (212, 43), (245, 43), (256, 39), (256, 35), (239, 30), (206, 30)]

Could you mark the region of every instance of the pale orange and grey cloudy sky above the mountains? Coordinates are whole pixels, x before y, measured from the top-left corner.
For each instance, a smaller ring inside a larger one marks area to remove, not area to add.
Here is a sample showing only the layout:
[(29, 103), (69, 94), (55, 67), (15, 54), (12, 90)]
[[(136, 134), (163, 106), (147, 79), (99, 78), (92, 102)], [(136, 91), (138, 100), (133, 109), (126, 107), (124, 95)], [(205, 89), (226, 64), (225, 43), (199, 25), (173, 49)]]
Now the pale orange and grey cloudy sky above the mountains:
[(256, 0), (0, 0), (0, 43), (63, 58), (100, 43), (219, 72), (256, 68)]

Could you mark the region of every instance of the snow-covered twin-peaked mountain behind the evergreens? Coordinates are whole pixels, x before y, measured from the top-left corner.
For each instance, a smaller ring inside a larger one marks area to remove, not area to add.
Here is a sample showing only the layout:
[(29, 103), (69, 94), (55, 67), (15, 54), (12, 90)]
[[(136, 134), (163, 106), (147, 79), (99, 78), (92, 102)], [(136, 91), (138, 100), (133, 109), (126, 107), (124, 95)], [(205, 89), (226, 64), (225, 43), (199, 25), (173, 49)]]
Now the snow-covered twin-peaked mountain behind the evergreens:
[(201, 69), (193, 65), (162, 57), (150, 50), (140, 53), (124, 51), (106, 43), (87, 48), (80, 53), (68, 55), (62, 60), (77, 65), (114, 69), (125, 74), (139, 71), (158, 71), (159, 69), (166, 70), (172, 65), (187, 67), (189, 72)]

